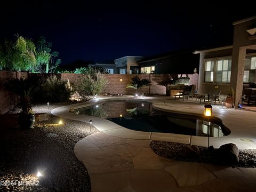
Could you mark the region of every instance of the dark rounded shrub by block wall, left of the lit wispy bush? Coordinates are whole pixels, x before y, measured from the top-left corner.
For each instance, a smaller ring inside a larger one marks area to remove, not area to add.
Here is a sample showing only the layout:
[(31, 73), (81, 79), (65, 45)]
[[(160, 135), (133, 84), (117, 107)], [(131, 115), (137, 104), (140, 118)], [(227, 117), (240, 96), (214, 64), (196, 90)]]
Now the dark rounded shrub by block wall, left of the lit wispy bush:
[(72, 89), (68, 87), (68, 83), (51, 76), (46, 79), (43, 84), (43, 93), (45, 99), (51, 102), (66, 102), (70, 98)]

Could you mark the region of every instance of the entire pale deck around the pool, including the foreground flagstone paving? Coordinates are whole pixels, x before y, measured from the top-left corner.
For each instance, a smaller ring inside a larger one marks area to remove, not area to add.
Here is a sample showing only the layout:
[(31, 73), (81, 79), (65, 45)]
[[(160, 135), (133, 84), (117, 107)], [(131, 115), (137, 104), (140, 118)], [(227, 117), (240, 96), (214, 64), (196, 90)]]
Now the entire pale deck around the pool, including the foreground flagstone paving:
[[(143, 100), (153, 102), (157, 109), (175, 113), (201, 115), (204, 111), (202, 104), (167, 97)], [(94, 99), (85, 105), (101, 101)], [(93, 126), (100, 131), (78, 141), (74, 148), (77, 158), (89, 172), (92, 191), (255, 191), (256, 169), (176, 162), (157, 156), (149, 147), (150, 140), (207, 146), (207, 138), (138, 132), (106, 119), (69, 112), (70, 108), (79, 106), (81, 103), (55, 108), (52, 114), (86, 123), (92, 119)], [(231, 134), (210, 138), (210, 145), (219, 147), (232, 142), (239, 149), (256, 149), (255, 115), (251, 111), (221, 109), (213, 105), (213, 116), (221, 119)]]

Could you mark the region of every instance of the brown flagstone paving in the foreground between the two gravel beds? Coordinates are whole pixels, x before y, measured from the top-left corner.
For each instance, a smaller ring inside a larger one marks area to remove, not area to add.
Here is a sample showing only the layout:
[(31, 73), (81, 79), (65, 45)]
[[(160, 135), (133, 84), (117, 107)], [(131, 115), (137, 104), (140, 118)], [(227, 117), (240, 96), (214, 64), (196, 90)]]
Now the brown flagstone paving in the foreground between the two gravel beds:
[(255, 191), (256, 169), (177, 162), (156, 155), (150, 140), (102, 132), (76, 143), (92, 191)]

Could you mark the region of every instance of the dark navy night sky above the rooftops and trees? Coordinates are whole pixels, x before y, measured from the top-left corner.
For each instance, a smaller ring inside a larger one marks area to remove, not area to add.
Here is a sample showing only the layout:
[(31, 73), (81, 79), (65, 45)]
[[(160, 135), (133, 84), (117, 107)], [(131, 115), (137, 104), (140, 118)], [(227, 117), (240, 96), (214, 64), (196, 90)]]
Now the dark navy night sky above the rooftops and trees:
[(44, 36), (62, 64), (209, 49), (231, 45), (232, 23), (256, 15), (253, 1), (223, 2), (1, 2), (0, 38)]

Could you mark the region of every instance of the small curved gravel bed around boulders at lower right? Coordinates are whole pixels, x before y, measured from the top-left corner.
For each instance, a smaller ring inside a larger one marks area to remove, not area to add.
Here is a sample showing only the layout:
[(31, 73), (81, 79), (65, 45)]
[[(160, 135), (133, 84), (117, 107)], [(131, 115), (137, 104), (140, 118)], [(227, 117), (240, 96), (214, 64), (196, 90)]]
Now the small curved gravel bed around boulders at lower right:
[[(200, 153), (197, 157), (182, 157), (180, 151), (186, 144), (169, 141), (151, 141), (150, 148), (159, 156), (174, 159), (176, 161), (198, 162), (198, 163), (216, 163), (213, 161), (213, 151), (207, 147), (197, 146)], [(239, 162), (237, 167), (256, 167), (256, 149), (239, 150)]]

